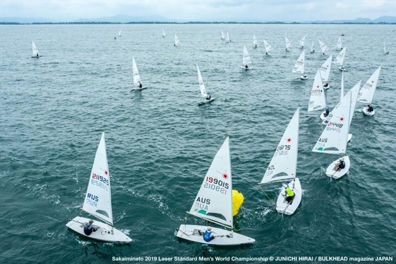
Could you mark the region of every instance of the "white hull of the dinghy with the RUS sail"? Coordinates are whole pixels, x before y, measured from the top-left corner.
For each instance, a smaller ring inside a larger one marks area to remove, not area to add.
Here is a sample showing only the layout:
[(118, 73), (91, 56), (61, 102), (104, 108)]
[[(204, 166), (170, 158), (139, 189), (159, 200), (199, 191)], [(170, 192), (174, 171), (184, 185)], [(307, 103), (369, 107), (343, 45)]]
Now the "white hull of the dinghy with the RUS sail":
[(88, 238), (92, 239), (97, 239), (100, 241), (105, 241), (105, 242), (125, 242), (129, 243), (132, 241), (131, 238), (129, 238), (127, 235), (122, 233), (121, 231), (115, 229), (114, 227), (112, 228), (111, 232), (111, 226), (108, 224), (99, 222), (99, 221), (94, 221), (94, 225), (99, 226), (99, 229), (96, 232), (92, 232), (91, 235), (87, 236), (84, 233), (84, 226), (86, 223), (89, 222), (89, 218), (77, 216), (70, 222), (66, 224), (68, 228), (71, 230), (79, 233), (80, 235), (83, 235)]

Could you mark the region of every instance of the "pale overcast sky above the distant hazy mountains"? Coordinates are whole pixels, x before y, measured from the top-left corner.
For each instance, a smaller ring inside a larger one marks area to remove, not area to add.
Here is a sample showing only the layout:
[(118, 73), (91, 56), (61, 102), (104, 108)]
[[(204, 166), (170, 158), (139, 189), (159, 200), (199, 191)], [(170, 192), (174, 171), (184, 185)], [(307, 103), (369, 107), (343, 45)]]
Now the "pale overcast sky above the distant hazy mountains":
[(312, 21), (396, 16), (396, 0), (0, 0), (2, 17), (73, 21), (125, 14), (187, 21)]

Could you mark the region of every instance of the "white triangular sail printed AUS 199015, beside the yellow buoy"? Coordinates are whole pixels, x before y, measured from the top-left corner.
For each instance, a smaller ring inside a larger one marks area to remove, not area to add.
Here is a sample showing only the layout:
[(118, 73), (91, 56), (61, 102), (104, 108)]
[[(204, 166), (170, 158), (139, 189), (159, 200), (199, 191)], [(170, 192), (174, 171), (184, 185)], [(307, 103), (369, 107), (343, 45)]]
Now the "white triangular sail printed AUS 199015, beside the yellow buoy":
[(233, 226), (230, 144), (227, 137), (214, 157), (190, 213)]

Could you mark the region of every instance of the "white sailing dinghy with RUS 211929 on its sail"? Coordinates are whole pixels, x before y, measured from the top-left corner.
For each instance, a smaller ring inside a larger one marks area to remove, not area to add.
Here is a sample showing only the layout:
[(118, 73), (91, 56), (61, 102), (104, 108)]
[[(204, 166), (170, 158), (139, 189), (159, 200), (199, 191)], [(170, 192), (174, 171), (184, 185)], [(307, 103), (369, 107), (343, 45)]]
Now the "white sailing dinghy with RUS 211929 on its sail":
[(76, 216), (66, 224), (66, 226), (71, 230), (83, 236), (106, 242), (129, 243), (132, 241), (132, 239), (127, 235), (113, 227), (110, 175), (108, 171), (104, 133), (102, 133), (99, 147), (96, 152), (90, 181), (88, 183), (87, 194), (85, 195), (84, 205), (81, 210), (88, 212), (103, 222), (95, 221), (94, 225), (99, 227), (98, 230), (87, 236), (84, 233), (84, 226), (90, 221), (90, 218)]

